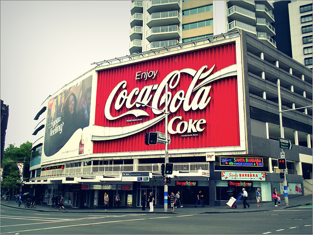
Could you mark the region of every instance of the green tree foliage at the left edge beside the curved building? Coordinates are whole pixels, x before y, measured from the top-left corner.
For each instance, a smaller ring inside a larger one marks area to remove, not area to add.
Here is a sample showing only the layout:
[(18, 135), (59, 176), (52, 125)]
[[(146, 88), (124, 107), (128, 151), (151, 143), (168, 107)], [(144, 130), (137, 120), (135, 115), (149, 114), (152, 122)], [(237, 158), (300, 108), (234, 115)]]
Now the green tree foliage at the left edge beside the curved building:
[[(17, 162), (24, 163), (24, 173), (23, 179), (27, 179), (30, 176), (29, 164), (32, 143), (26, 142), (20, 145), (20, 147), (15, 147), (10, 144), (3, 152), (3, 159), (1, 162), (1, 168), (3, 168), (3, 182), (1, 182), (1, 190), (13, 190), (13, 192), (18, 191), (20, 188), (21, 178), (19, 169), (16, 165)], [(14, 161), (14, 162), (8, 162)]]

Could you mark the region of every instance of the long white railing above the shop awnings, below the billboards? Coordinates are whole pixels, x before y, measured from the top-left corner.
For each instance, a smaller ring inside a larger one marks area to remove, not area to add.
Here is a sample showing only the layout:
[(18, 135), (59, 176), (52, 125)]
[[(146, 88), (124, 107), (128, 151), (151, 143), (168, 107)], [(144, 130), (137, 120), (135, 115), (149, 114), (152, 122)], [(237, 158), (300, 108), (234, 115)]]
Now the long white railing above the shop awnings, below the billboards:
[[(193, 163), (174, 163), (173, 171), (209, 171), (208, 162), (193, 162)], [(94, 175), (94, 174), (120, 174), (122, 172), (161, 172), (161, 164), (128, 164), (128, 165), (98, 165), (98, 166), (84, 166), (71, 167), (65, 169), (53, 169), (41, 171), (41, 177), (44, 176), (69, 176), (69, 175)]]

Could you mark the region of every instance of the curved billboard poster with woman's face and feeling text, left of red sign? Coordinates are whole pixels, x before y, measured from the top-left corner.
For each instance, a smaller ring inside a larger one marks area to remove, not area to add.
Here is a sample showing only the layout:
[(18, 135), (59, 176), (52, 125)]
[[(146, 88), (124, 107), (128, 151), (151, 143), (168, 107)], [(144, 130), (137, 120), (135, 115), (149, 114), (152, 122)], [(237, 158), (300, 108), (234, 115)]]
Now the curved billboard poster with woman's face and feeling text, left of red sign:
[(89, 127), (91, 82), (92, 76), (89, 76), (49, 100), (45, 125), (45, 157), (51, 157), (65, 148), (72, 136), (79, 138), (77, 146), (68, 146), (66, 150), (59, 152), (59, 156), (68, 155), (69, 152), (71, 156), (79, 153), (78, 143), (82, 131)]

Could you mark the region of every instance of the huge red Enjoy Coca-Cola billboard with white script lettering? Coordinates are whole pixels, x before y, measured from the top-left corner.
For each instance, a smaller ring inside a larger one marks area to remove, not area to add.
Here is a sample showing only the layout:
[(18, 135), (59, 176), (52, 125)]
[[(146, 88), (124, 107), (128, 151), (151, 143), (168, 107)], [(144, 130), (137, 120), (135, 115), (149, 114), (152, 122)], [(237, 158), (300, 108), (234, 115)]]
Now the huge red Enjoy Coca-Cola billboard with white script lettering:
[(93, 152), (164, 150), (144, 140), (165, 132), (166, 84), (169, 150), (240, 147), (237, 58), (232, 42), (99, 69)]

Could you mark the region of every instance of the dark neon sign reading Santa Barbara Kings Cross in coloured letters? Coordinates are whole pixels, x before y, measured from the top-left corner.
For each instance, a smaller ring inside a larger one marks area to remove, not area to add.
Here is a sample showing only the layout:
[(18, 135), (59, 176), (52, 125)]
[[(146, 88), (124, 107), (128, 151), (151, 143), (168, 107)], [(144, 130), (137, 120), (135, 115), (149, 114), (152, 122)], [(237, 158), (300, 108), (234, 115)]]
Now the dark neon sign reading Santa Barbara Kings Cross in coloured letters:
[(263, 167), (262, 157), (220, 157), (221, 166)]

